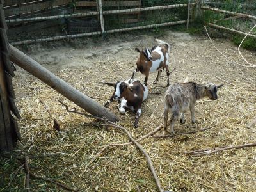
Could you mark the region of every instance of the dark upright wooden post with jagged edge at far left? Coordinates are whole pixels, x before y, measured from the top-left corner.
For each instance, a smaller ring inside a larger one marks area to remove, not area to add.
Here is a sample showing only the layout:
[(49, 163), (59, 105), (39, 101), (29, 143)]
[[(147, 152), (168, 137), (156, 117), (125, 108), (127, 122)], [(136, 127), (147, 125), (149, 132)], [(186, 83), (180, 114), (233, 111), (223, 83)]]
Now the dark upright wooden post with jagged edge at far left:
[(0, 0), (0, 152), (11, 151), (15, 142), (21, 140), (16, 120), (20, 118), (12, 86), (13, 68), (9, 60), (9, 43), (6, 35), (3, 0)]

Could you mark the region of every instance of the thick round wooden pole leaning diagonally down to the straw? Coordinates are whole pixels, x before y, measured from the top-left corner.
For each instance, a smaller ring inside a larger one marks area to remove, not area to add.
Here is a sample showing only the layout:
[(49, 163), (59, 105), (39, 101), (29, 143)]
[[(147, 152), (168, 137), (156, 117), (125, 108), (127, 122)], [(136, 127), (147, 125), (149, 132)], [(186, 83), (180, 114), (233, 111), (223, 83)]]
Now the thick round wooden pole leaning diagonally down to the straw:
[(88, 113), (101, 118), (107, 118), (112, 122), (116, 122), (118, 120), (118, 118), (111, 113), (109, 109), (104, 108), (104, 106), (100, 105), (98, 102), (95, 102), (95, 100), (79, 92), (74, 87), (70, 86), (70, 84), (67, 84), (65, 81), (52, 74), (49, 70), (42, 67), (42, 65), (12, 45), (10, 45), (10, 60), (44, 83), (51, 86), (51, 88), (61, 93), (61, 95), (67, 97), (67, 99), (71, 100)]

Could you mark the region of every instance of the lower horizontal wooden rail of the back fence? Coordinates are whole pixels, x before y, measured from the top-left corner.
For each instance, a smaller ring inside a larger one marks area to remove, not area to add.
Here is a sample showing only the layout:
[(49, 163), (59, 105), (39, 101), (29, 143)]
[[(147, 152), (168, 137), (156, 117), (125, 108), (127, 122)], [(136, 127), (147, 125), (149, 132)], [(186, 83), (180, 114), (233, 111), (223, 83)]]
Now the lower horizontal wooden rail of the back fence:
[[(191, 20), (193, 21), (193, 20)], [(136, 29), (148, 29), (148, 28), (154, 28), (154, 27), (161, 27), (161, 26), (174, 26), (178, 24), (186, 24), (186, 20), (180, 20), (180, 21), (175, 21), (175, 22), (164, 22), (161, 24), (152, 24), (152, 25), (147, 25), (147, 26), (138, 26), (138, 27), (132, 27), (132, 28), (122, 28), (122, 29), (113, 29), (109, 31), (105, 31), (106, 33), (116, 33), (116, 32), (123, 32), (123, 31), (132, 31)], [(92, 32), (92, 33), (80, 33), (76, 35), (67, 35), (67, 36), (54, 36), (50, 38), (40, 38), (36, 40), (24, 40), (20, 42), (12, 42), (12, 45), (24, 45), (24, 44), (32, 44), (36, 42), (49, 42), (53, 40), (64, 40), (64, 39), (70, 39), (70, 38), (79, 38), (82, 36), (92, 36), (92, 35), (100, 35), (101, 32)]]

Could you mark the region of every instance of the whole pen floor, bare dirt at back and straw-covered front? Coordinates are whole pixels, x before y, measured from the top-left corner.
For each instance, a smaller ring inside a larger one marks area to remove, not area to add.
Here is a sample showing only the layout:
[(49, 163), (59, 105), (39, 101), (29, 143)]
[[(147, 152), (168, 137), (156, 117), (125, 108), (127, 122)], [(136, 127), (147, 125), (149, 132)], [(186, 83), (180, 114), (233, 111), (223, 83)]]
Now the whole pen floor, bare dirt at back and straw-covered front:
[[(219, 90), (216, 101), (200, 100), (196, 105), (196, 124), (190, 123), (188, 112), (186, 124), (177, 122), (175, 125), (178, 133), (216, 125), (214, 128), (192, 135), (168, 139), (148, 138), (143, 141), (143, 147), (152, 158), (164, 190), (256, 191), (255, 148), (200, 157), (184, 154), (191, 150), (256, 141), (255, 127), (246, 128), (246, 124), (256, 116), (256, 93), (255, 90), (248, 90), (255, 87), (248, 84), (239, 71), (243, 71), (250, 82), (256, 84), (256, 69), (239, 67), (228, 61), (214, 49), (206, 36), (166, 31), (157, 38), (172, 44), (170, 70), (176, 70), (171, 75), (171, 83), (183, 81), (189, 75), (189, 80), (196, 83), (223, 83), (217, 78), (221, 77), (235, 85), (225, 83)], [(232, 43), (220, 39), (214, 40), (214, 43), (228, 58), (244, 64), (237, 47)], [(152, 35), (117, 34), (104, 42), (77, 39), (70, 43), (51, 42), (47, 48), (29, 45), (25, 52), (81, 92), (104, 104), (113, 89), (99, 82), (129, 79), (138, 58), (134, 48), (151, 47), (154, 44), (156, 42)], [(255, 52), (243, 50), (242, 53), (248, 61), (256, 63)], [(112, 128), (84, 125), (93, 120), (66, 113), (58, 102), (58, 99), (64, 99), (63, 96), (17, 68), (14, 84), (16, 102), (22, 116), (20, 132), (23, 139), (17, 153), (23, 151), (29, 154), (58, 154), (56, 157), (33, 159), (30, 162), (33, 172), (82, 191), (134, 191), (136, 185), (141, 191), (156, 191), (145, 157), (132, 145), (111, 148), (88, 165), (91, 158), (105, 145), (126, 143), (128, 140), (125, 134)], [(150, 74), (150, 94), (143, 103), (138, 129), (132, 127), (134, 113), (120, 115), (117, 102), (109, 107), (134, 138), (154, 130), (163, 121), (163, 96), (166, 88), (154, 88), (156, 85), (152, 82), (156, 75)], [(136, 79), (143, 82), (144, 78), (143, 75), (136, 74)], [(158, 85), (165, 86), (166, 77), (162, 77)], [(49, 115), (39, 100), (49, 106), (63, 132), (57, 133), (52, 129)], [(68, 104), (70, 107), (74, 106), (70, 102)], [(163, 131), (158, 134), (163, 134)], [(6, 161), (8, 163), (10, 162)], [(20, 174), (24, 175), (24, 172)], [(24, 184), (19, 179), (14, 179), (12, 189), (22, 188)], [(31, 181), (31, 188), (57, 190), (55, 186), (40, 180)]]

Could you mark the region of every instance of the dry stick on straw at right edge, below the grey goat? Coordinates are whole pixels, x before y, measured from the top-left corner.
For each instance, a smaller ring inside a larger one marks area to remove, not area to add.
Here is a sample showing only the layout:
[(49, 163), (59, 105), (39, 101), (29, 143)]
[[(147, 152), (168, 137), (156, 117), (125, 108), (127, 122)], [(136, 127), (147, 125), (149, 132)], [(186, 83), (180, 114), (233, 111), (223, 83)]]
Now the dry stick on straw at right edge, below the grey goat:
[(237, 149), (237, 148), (244, 148), (244, 147), (254, 147), (256, 146), (256, 143), (248, 143), (244, 145), (235, 145), (230, 147), (220, 147), (220, 148), (214, 148), (214, 149), (204, 149), (204, 150), (194, 150), (191, 152), (185, 152), (185, 154), (191, 155), (191, 156), (202, 156), (202, 155), (208, 155), (213, 154), (216, 152), (220, 152), (223, 150), (230, 150), (230, 149)]

